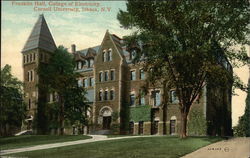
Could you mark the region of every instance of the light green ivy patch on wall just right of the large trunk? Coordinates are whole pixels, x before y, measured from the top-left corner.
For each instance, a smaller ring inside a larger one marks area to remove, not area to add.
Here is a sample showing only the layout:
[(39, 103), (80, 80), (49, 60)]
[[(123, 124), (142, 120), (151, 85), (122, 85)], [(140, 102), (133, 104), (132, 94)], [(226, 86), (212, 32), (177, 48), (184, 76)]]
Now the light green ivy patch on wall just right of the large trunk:
[(202, 111), (193, 109), (190, 111), (188, 120), (189, 135), (206, 135), (206, 118)]

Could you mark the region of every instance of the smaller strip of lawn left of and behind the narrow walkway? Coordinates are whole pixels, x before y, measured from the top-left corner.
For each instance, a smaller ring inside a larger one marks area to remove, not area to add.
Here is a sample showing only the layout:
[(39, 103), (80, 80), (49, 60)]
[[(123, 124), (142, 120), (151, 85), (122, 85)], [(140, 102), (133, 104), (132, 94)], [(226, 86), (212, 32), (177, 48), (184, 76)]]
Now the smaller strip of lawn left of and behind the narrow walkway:
[(89, 139), (90, 136), (84, 135), (23, 135), (15, 137), (1, 137), (0, 138), (0, 149), (14, 149), (21, 147), (28, 147), (33, 145), (58, 143), (66, 141), (74, 141), (81, 139)]

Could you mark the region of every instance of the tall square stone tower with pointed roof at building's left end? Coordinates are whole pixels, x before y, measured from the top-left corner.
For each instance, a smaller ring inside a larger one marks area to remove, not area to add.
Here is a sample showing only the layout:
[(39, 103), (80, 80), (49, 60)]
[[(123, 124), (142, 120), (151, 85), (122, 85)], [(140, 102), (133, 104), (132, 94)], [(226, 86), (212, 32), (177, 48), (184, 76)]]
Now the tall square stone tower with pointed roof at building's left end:
[(56, 49), (56, 44), (50, 33), (48, 25), (43, 14), (41, 14), (33, 27), (31, 34), (22, 50), (23, 55), (23, 73), (24, 73), (24, 101), (27, 105), (28, 118), (26, 119), (22, 130), (29, 130), (32, 127), (32, 121), (37, 113), (38, 103), (46, 102), (42, 99), (41, 91), (37, 87), (39, 76), (37, 68), (39, 64), (47, 63), (49, 56)]

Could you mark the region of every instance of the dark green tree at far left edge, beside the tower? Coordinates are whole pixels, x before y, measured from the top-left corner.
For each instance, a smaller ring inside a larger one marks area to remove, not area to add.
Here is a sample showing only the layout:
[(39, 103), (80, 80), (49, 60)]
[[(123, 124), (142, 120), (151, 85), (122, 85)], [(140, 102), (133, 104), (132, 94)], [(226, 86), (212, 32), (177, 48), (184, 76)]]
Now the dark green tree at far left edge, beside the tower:
[[(13, 134), (22, 125), (26, 106), (23, 102), (22, 82), (11, 74), (11, 66), (1, 69), (0, 135)], [(13, 117), (14, 116), (14, 117)]]

